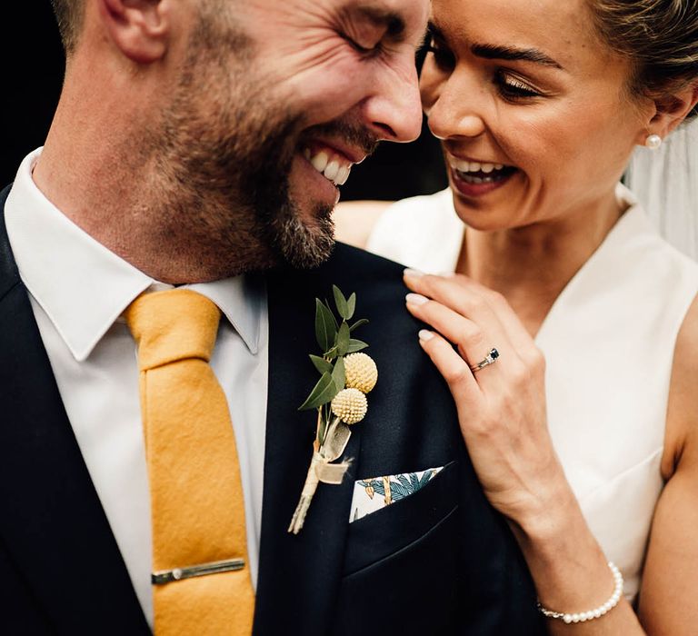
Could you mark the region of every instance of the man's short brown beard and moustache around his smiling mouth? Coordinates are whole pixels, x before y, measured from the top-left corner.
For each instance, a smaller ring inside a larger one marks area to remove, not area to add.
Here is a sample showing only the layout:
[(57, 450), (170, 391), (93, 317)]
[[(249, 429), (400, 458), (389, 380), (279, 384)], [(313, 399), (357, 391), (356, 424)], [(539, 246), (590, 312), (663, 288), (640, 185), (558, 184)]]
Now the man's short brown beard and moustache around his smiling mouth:
[(317, 266), (334, 247), (332, 206), (316, 204), (301, 214), (292, 199), (290, 175), (301, 137), (338, 135), (367, 154), (375, 137), (344, 122), (302, 134), (303, 115), (255, 76), (254, 53), (244, 53), (253, 47), (244, 35), (216, 28), (205, 20), (194, 34), (163, 125), (152, 137), (156, 172), (164, 177), (157, 184), (163, 239), (186, 233), (213, 277), (277, 263)]

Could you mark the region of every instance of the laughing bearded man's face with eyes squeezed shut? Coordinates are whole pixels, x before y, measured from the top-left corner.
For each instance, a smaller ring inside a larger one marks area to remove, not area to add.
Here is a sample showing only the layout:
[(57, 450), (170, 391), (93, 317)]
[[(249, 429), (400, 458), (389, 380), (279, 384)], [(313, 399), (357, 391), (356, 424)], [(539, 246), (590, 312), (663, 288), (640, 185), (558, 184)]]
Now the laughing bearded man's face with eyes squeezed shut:
[(426, 0), (204, 0), (162, 155), (202, 237), (258, 239), (245, 269), (321, 263), (337, 184), (378, 141), (419, 134), (427, 14)]

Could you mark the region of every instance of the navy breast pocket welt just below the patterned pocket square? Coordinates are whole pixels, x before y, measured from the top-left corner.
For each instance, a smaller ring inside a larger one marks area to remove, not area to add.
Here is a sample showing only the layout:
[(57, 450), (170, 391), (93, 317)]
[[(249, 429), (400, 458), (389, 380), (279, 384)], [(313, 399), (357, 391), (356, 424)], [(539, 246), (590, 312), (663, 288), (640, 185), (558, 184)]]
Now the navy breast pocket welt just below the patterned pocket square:
[(349, 524), (344, 575), (418, 541), (458, 507), (458, 464), (444, 466), (424, 488)]

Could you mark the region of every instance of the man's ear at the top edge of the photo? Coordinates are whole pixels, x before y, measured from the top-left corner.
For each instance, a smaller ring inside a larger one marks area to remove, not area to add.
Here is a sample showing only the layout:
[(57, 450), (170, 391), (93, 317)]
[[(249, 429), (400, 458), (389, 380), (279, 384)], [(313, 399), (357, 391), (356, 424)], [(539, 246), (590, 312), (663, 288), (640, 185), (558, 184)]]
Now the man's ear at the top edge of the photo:
[(162, 0), (98, 0), (107, 34), (138, 64), (161, 59), (167, 49), (170, 19)]

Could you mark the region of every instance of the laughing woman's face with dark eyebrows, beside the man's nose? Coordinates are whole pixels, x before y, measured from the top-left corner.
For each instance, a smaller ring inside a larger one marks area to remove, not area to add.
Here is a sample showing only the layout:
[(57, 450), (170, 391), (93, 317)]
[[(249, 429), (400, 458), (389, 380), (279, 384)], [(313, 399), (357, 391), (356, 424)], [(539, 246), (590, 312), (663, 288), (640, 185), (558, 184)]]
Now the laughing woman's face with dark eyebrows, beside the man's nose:
[(652, 118), (588, 0), (434, 0), (421, 78), (454, 203), (481, 230), (583, 214), (614, 186)]

